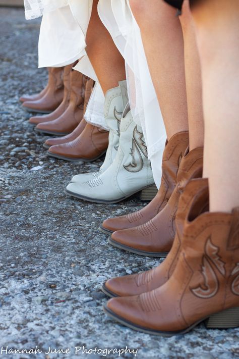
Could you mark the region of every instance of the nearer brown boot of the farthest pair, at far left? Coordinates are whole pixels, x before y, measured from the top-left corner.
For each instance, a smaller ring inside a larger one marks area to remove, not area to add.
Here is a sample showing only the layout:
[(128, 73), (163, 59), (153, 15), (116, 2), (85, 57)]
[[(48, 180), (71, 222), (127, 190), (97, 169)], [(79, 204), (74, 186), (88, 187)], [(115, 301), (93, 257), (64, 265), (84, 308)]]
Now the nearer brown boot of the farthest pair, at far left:
[(63, 71), (64, 67), (50, 67), (47, 91), (38, 100), (23, 102), (23, 109), (28, 112), (42, 114), (47, 114), (57, 109), (64, 96)]

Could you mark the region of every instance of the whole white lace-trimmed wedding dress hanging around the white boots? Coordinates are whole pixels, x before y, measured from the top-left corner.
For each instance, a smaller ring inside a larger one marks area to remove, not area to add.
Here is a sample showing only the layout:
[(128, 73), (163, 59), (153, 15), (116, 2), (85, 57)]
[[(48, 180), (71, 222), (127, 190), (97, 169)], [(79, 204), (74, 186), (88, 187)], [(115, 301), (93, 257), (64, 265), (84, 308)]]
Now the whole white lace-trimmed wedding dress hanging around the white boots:
[[(93, 0), (24, 0), (27, 19), (43, 15), (39, 36), (39, 67), (58, 67), (81, 59), (76, 70), (97, 85), (89, 101), (86, 120), (107, 129), (103, 118), (104, 95), (85, 52), (85, 36)], [(154, 180), (161, 180), (165, 128), (149, 74), (140, 29), (129, 0), (99, 0), (98, 13), (126, 62), (131, 110), (140, 123), (148, 146)]]

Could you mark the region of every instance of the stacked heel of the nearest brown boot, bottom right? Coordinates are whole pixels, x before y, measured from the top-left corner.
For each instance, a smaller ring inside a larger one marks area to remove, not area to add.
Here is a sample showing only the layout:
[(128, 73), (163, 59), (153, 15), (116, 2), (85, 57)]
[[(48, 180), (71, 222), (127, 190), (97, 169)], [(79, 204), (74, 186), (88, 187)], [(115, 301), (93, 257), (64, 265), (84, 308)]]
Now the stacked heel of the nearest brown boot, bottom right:
[(239, 307), (229, 308), (220, 313), (213, 314), (204, 323), (207, 329), (239, 327)]

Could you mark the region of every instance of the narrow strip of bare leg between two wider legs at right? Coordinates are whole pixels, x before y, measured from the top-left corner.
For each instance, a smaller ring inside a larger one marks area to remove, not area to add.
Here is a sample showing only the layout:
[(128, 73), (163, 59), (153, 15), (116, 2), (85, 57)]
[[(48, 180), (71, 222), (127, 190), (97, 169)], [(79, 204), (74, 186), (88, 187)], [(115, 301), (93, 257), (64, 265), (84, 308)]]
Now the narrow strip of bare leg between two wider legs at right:
[(188, 101), (190, 150), (204, 144), (201, 64), (196, 42), (196, 29), (189, 0), (184, 1), (180, 21), (184, 34), (185, 75)]

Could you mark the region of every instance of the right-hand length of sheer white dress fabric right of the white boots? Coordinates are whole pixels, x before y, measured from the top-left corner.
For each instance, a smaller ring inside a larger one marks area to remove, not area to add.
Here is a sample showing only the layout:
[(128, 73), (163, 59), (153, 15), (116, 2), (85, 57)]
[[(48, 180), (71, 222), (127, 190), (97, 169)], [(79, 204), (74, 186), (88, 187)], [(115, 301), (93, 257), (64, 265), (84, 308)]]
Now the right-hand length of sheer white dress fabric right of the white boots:
[(134, 121), (142, 126), (154, 181), (159, 187), (166, 133), (140, 29), (129, 0), (99, 0), (98, 13), (125, 59), (131, 111)]

